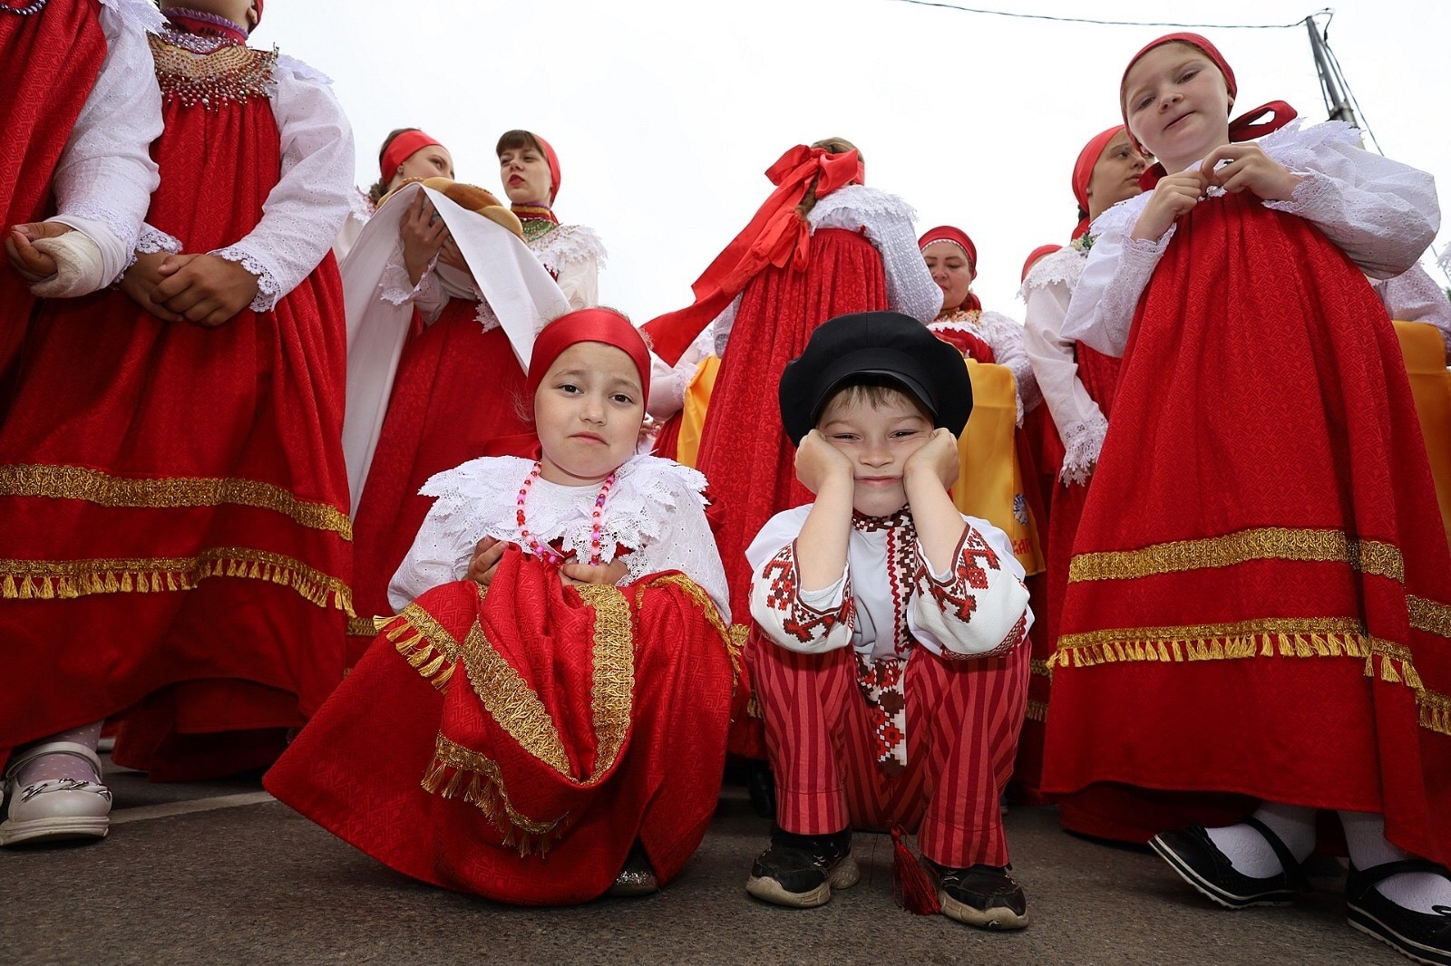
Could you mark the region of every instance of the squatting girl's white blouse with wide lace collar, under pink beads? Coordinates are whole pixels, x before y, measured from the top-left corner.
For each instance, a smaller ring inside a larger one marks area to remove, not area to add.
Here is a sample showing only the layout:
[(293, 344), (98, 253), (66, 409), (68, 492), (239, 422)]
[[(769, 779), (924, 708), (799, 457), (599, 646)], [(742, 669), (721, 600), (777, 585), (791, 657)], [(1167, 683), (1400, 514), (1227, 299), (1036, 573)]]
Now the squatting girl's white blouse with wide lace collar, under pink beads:
[[(517, 500), (533, 460), (482, 457), (432, 476), (419, 490), (438, 498), (414, 545), (387, 587), (402, 609), (418, 595), (469, 573), (474, 545), (485, 537), (519, 542)], [(715, 538), (705, 521), (705, 477), (651, 455), (634, 455), (615, 471), (601, 516), (601, 563), (622, 554), (621, 583), (660, 570), (679, 570), (698, 583), (730, 621), (730, 590)], [(591, 556), (591, 527), (598, 486), (560, 486), (534, 480), (525, 506), (528, 529), (576, 560)]]

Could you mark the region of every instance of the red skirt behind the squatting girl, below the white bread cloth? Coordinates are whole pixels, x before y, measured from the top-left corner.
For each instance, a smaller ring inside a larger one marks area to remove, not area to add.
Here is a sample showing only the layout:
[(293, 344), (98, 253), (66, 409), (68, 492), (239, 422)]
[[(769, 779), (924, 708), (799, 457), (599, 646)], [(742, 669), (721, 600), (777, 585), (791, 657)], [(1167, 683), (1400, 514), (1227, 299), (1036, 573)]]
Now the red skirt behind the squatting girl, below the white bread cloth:
[(483, 331), (477, 309), (450, 299), (399, 360), (357, 512), (358, 618), (348, 625), (348, 667), (373, 643), (371, 618), (393, 614), (387, 582), (434, 503), (418, 490), (432, 474), (483, 455), (490, 439), (530, 429), (524, 370), (502, 328)]

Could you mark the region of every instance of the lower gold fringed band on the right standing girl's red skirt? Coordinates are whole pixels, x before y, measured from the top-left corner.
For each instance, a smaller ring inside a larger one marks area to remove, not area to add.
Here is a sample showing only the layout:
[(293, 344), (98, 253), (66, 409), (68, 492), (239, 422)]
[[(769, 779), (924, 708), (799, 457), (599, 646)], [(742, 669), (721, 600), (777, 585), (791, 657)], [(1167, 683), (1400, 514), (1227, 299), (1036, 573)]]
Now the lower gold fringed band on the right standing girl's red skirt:
[(1423, 728), (1451, 735), (1451, 699), (1426, 689), (1412, 663), (1410, 650), (1393, 641), (1370, 637), (1364, 627), (1352, 619), (1267, 619), (1065, 634), (1059, 638), (1058, 650), (1053, 651), (1049, 664), (1097, 667), (1136, 661), (1184, 663), (1252, 657), (1364, 659), (1367, 677), (1378, 677), (1387, 685), (1405, 685), (1415, 692)]

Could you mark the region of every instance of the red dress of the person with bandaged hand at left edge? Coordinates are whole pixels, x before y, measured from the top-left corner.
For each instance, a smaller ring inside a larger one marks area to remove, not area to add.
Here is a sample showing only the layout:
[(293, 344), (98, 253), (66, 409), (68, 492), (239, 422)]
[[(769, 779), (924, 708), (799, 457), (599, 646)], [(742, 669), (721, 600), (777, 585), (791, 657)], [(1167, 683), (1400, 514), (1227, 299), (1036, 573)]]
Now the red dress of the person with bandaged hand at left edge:
[[(55, 213), (51, 177), (102, 61), (96, 0), (48, 3), (29, 16), (0, 12), (0, 212), (3, 229)], [(0, 421), (15, 397), (12, 366), (35, 309), (29, 283), (0, 265)]]

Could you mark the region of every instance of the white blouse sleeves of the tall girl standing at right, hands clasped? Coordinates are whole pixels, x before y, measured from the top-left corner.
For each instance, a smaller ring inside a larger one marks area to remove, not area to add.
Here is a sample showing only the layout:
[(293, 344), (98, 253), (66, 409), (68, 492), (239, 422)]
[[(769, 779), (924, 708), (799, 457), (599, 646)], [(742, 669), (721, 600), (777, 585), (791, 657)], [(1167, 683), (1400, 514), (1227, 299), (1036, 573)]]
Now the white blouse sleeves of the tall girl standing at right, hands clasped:
[[(1416, 264), (1435, 238), (1441, 206), (1429, 174), (1362, 151), (1358, 139), (1338, 120), (1310, 128), (1291, 122), (1261, 138), (1267, 155), (1304, 177), (1288, 202), (1264, 206), (1313, 222), (1367, 276), (1390, 278)], [(1209, 194), (1201, 205), (1223, 191)], [(1139, 296), (1177, 229), (1171, 225), (1156, 241), (1130, 238), (1149, 197), (1152, 191), (1119, 202), (1094, 220), (1088, 264), (1064, 319), (1065, 339), (1123, 355)]]

